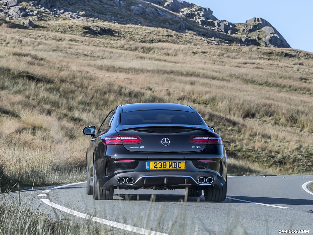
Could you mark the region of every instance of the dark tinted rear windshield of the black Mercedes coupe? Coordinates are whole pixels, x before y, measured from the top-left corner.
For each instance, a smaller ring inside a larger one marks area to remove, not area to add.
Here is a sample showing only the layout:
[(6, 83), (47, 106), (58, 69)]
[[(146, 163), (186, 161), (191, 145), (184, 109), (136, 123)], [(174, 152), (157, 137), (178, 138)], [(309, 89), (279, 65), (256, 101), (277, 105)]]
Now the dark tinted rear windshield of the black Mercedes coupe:
[(194, 112), (177, 110), (142, 110), (121, 113), (122, 125), (140, 124), (187, 124), (201, 125)]

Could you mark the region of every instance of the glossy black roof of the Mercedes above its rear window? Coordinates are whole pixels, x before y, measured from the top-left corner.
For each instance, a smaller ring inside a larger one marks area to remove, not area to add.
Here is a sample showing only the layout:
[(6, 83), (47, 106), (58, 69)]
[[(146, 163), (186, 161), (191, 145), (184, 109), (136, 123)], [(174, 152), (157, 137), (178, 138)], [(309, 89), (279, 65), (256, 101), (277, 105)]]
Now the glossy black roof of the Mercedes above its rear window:
[(132, 112), (139, 110), (180, 110), (194, 112), (192, 107), (183, 104), (172, 103), (136, 103), (121, 105), (121, 112)]

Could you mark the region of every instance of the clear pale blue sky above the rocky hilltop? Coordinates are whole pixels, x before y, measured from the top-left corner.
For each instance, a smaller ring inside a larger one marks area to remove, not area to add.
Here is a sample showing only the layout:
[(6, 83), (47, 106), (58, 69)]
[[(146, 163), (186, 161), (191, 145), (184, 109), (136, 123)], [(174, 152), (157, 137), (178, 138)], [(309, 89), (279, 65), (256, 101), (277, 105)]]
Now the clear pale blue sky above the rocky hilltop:
[(267, 20), (294, 49), (313, 52), (313, 1), (208, 1), (187, 0), (208, 7), (219, 20), (244, 23), (253, 17)]

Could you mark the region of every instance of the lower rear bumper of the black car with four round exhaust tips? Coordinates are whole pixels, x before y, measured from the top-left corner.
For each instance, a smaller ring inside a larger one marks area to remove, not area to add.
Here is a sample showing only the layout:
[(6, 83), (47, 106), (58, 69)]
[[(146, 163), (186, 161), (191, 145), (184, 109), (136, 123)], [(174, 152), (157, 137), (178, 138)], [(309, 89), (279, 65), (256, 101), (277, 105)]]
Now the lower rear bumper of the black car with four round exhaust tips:
[[(203, 179), (204, 182), (201, 182)], [(220, 188), (225, 184), (225, 180), (214, 171), (145, 171), (120, 173), (110, 179), (100, 180), (99, 184), (104, 190), (112, 187), (115, 189), (185, 189), (186, 187), (205, 188), (208, 185), (215, 185)]]

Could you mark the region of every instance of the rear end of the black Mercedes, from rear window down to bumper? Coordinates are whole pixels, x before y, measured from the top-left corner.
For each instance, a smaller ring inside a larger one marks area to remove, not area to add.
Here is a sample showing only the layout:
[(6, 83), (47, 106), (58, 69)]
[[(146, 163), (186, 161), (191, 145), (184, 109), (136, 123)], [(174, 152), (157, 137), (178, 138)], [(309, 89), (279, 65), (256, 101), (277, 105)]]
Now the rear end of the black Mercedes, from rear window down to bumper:
[(102, 189), (202, 190), (225, 184), (222, 139), (193, 108), (123, 110), (114, 132), (101, 136), (106, 158), (97, 159), (105, 168)]

